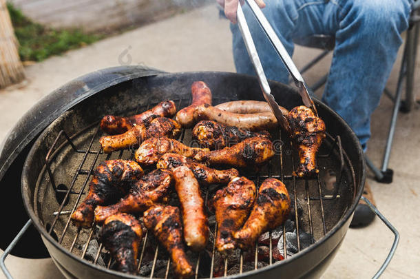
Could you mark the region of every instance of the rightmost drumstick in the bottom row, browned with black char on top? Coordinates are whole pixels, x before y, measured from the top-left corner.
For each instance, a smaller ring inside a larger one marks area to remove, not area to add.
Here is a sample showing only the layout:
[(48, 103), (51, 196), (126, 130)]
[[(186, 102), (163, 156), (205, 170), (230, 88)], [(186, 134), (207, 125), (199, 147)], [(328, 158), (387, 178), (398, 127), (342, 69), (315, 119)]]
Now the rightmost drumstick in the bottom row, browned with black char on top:
[(275, 178), (264, 180), (244, 227), (233, 233), (241, 249), (251, 248), (266, 231), (284, 223), (291, 210), (291, 199), (286, 186)]

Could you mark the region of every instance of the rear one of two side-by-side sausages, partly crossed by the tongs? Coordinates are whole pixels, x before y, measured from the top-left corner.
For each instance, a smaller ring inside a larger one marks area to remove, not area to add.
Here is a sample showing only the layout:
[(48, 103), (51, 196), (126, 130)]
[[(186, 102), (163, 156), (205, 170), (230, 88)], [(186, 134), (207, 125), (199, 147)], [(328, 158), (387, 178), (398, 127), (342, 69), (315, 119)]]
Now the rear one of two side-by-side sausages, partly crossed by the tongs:
[[(216, 105), (219, 110), (225, 112), (233, 112), (234, 114), (254, 114), (258, 112), (271, 112), (269, 103), (265, 101), (231, 101)], [(286, 108), (279, 105), (280, 110), (284, 115), (288, 114)]]

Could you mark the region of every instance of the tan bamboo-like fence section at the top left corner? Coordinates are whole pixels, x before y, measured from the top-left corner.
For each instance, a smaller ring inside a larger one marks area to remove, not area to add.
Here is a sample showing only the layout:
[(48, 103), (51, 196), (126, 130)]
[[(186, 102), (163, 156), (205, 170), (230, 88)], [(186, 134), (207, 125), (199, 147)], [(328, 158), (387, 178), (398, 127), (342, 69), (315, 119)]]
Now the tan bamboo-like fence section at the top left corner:
[(25, 78), (6, 0), (0, 0), (0, 88)]

